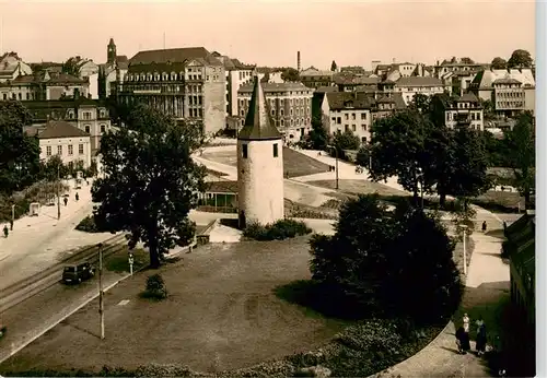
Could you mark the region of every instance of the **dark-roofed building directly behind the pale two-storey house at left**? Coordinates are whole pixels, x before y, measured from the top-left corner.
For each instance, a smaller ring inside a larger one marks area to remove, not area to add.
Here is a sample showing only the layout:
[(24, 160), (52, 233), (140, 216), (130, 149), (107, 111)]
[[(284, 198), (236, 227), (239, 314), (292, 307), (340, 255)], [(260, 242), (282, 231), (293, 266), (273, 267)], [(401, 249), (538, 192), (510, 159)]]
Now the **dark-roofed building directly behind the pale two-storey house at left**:
[(23, 105), (32, 116), (32, 127), (44, 129), (48, 121), (65, 121), (85, 132), (90, 138), (93, 156), (102, 135), (112, 129), (108, 108), (89, 98), (67, 101), (28, 101)]

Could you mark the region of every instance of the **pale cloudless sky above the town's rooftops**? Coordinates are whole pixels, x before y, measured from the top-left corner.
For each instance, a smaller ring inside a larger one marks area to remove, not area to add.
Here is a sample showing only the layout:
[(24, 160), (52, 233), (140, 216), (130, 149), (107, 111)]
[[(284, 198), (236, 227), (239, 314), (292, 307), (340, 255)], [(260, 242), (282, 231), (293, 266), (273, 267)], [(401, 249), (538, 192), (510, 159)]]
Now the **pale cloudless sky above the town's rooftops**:
[[(165, 37), (164, 37), (165, 36)], [(531, 0), (94, 1), (0, 0), (0, 52), (27, 62), (203, 46), (258, 66), (328, 69), (371, 61), (470, 57), (490, 62), (522, 48), (535, 56)]]

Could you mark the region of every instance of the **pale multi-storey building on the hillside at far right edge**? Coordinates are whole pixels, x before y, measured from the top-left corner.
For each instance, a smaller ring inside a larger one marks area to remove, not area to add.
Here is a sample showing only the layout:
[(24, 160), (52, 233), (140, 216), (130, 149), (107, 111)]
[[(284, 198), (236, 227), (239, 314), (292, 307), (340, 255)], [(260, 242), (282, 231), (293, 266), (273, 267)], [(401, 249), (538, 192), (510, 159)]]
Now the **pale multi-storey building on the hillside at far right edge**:
[(531, 69), (482, 70), (469, 84), (469, 91), (490, 101), (498, 115), (535, 111), (536, 82)]

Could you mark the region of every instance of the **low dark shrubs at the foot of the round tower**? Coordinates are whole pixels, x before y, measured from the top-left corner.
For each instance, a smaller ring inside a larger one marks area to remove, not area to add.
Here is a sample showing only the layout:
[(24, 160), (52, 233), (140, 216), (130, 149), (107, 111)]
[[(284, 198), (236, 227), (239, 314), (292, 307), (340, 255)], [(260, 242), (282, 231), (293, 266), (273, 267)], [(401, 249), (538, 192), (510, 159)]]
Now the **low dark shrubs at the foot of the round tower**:
[(310, 233), (312, 233), (312, 229), (302, 221), (279, 220), (276, 223), (268, 224), (266, 226), (252, 223), (243, 231), (243, 236), (265, 241), (283, 240)]

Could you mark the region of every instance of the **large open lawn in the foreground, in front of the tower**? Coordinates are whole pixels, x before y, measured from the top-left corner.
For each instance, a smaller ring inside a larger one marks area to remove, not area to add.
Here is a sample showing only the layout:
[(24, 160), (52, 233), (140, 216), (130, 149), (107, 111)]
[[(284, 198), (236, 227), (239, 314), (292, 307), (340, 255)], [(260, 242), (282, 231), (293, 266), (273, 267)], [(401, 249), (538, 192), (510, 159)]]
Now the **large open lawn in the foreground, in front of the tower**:
[(104, 341), (97, 338), (93, 302), (0, 365), (0, 371), (96, 373), (104, 365), (136, 369), (155, 363), (214, 373), (315, 349), (344, 323), (310, 317), (275, 294), (280, 285), (310, 279), (307, 240), (197, 248), (160, 269), (166, 300), (139, 297), (150, 271), (109, 291)]

